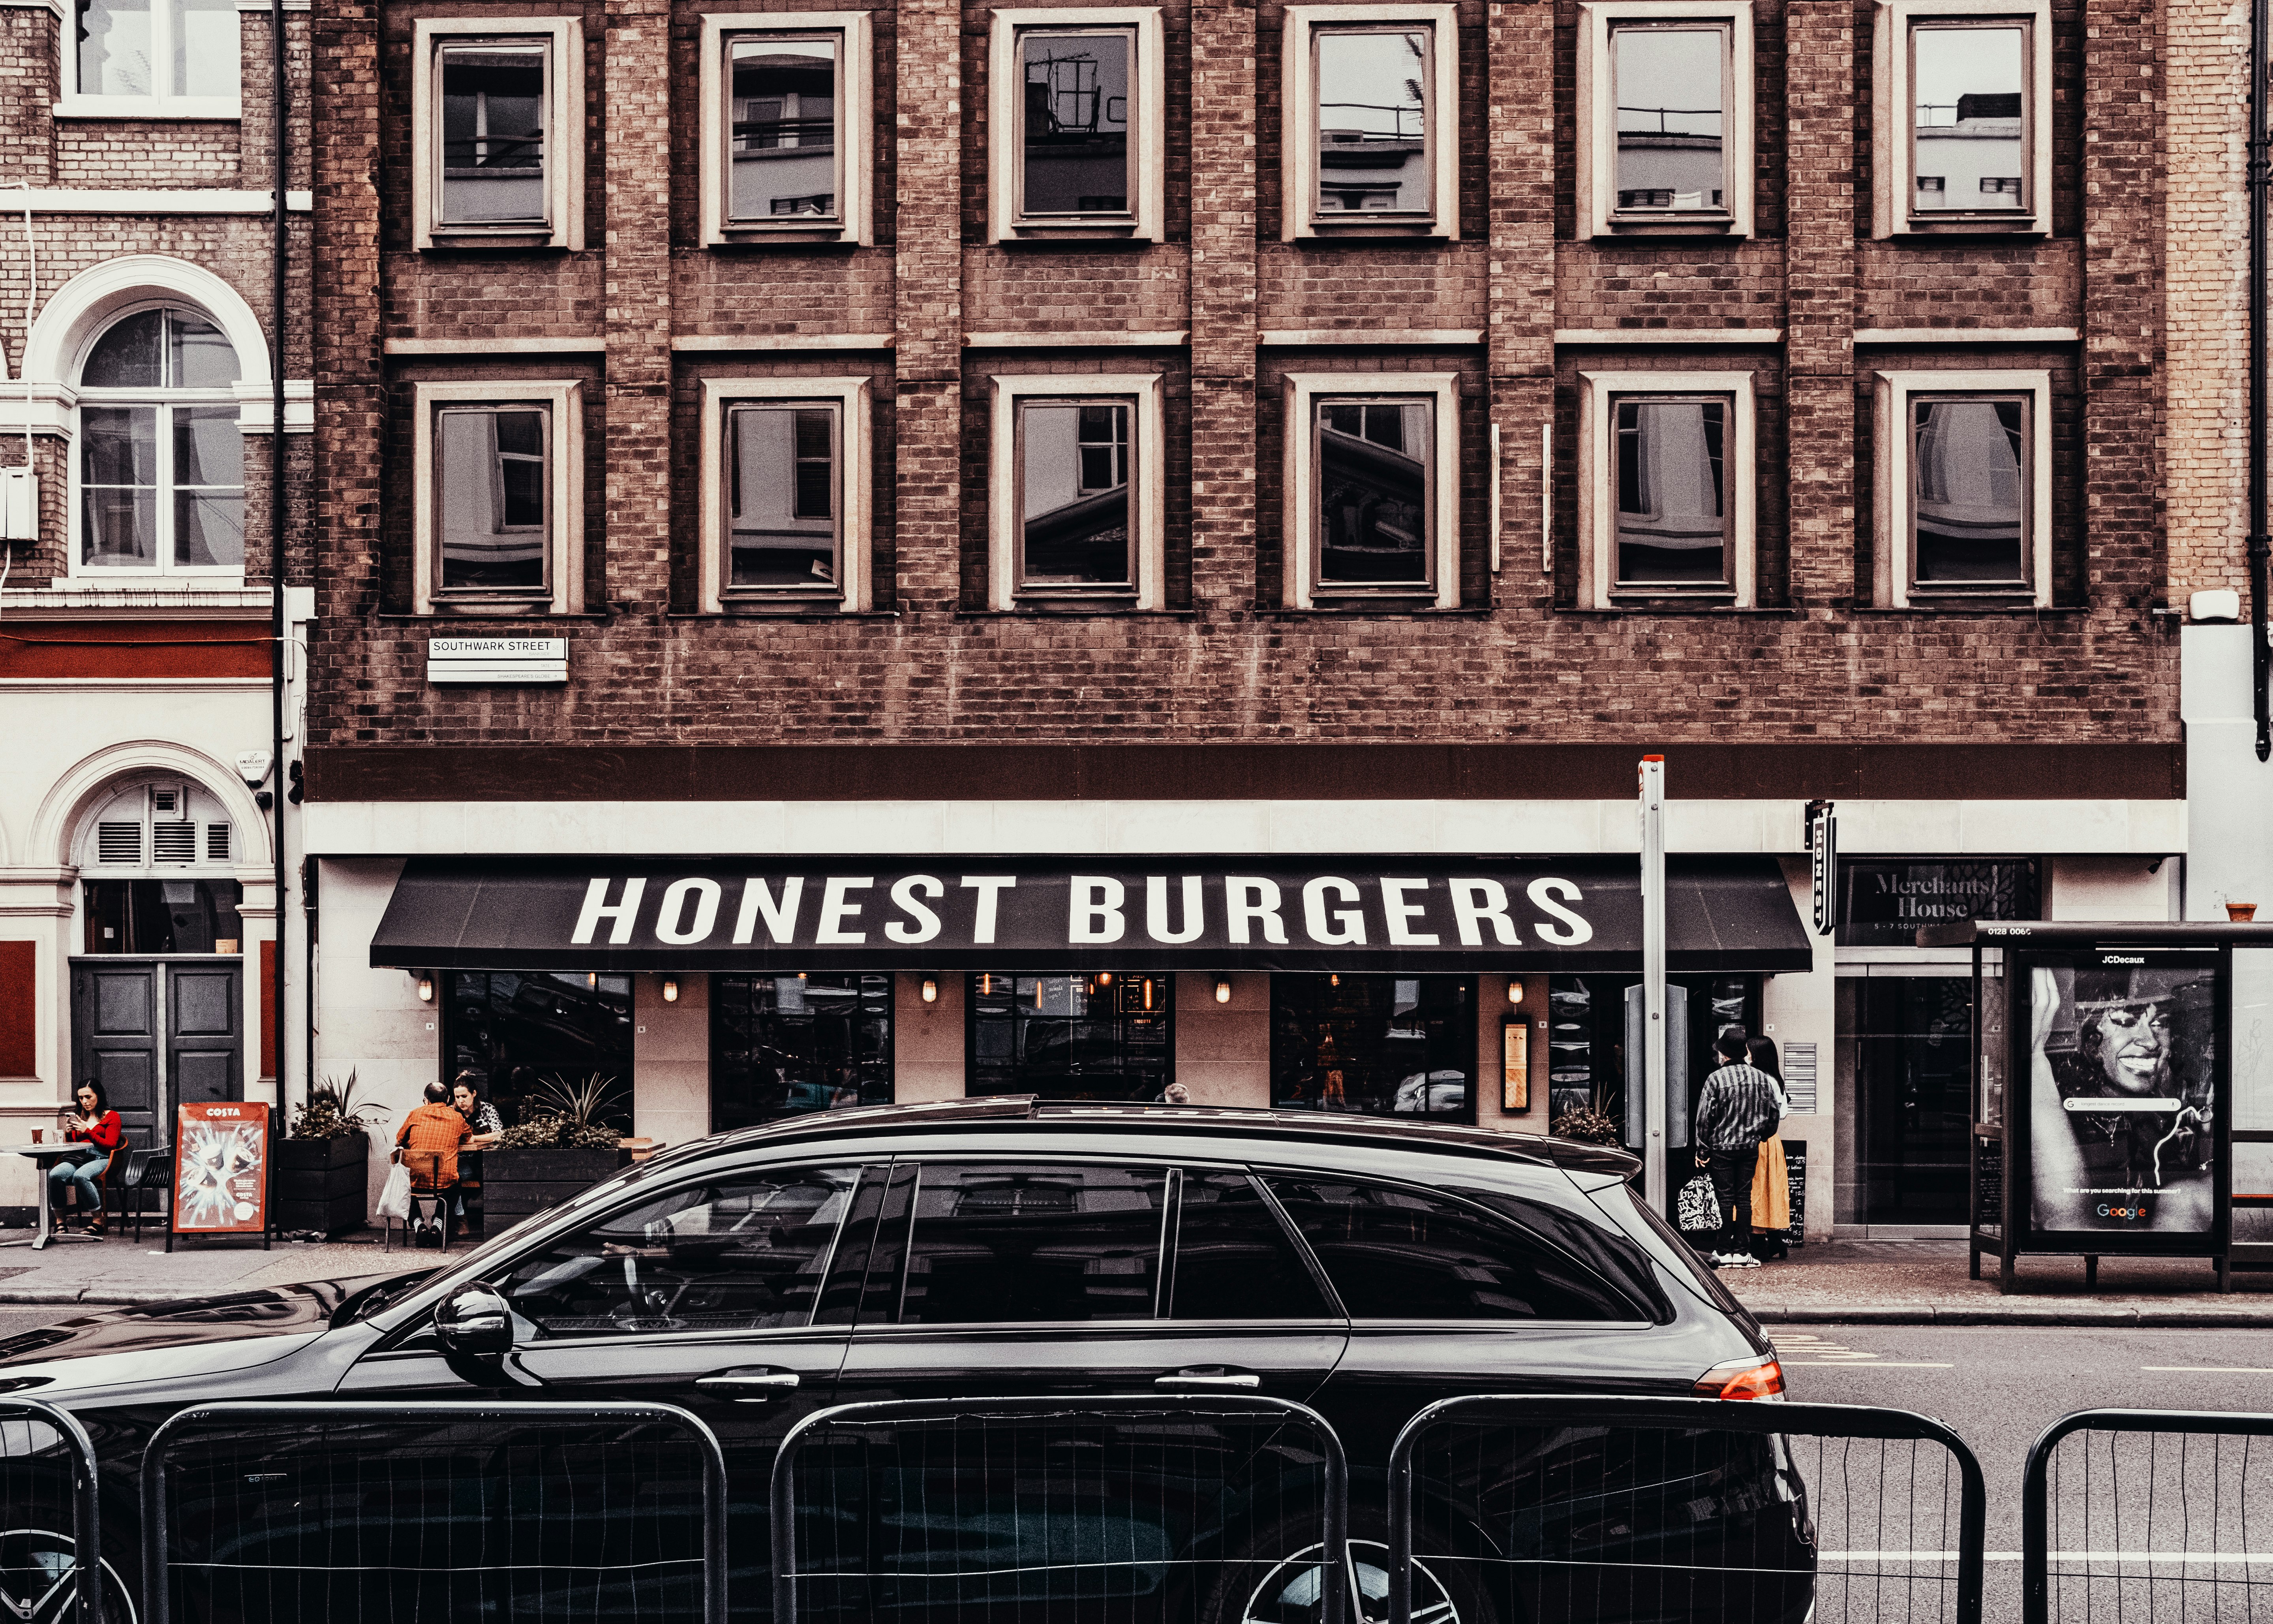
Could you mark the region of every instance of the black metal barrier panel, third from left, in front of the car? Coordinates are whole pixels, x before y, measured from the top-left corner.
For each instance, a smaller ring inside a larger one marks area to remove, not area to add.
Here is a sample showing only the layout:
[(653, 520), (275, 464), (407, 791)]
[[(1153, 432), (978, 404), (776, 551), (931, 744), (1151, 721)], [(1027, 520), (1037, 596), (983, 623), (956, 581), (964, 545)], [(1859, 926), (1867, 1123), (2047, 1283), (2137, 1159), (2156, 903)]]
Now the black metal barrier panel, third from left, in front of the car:
[(848, 1403), (773, 1463), (775, 1624), (1346, 1619), (1346, 1551), (1341, 1440), (1282, 1399)]

